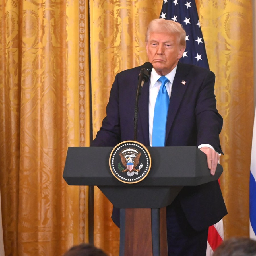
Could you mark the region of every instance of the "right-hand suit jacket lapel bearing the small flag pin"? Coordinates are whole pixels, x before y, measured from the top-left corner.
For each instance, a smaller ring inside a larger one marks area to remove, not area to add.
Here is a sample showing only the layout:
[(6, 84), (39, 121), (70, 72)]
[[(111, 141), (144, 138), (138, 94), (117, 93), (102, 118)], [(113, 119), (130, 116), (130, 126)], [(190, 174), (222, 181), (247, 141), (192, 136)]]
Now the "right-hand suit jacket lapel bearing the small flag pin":
[(178, 62), (177, 71), (172, 84), (172, 92), (166, 121), (166, 138), (168, 137), (168, 134), (172, 127), (172, 123), (177, 114), (179, 105), (189, 84), (189, 79), (186, 78), (186, 75), (187, 72), (184, 71), (182, 64)]

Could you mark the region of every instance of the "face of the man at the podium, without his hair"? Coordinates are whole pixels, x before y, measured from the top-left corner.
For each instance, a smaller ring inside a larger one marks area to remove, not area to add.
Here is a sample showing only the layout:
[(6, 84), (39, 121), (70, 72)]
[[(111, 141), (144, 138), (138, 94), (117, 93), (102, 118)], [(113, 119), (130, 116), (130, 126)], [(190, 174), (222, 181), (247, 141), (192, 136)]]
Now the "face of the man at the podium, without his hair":
[(185, 48), (178, 42), (176, 34), (152, 32), (146, 42), (148, 61), (158, 75), (170, 73), (182, 57)]

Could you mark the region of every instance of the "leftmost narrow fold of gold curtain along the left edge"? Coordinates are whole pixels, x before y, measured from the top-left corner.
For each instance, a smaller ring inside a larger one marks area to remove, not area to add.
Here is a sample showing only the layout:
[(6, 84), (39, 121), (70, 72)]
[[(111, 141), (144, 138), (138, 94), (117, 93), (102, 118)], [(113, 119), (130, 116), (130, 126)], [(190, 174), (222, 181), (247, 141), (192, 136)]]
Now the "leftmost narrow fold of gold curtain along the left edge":
[[(18, 187), (20, 147), (19, 4), (1, 4), (1, 205), (5, 253), (18, 252)], [(16, 22), (15, 22), (16, 21)]]

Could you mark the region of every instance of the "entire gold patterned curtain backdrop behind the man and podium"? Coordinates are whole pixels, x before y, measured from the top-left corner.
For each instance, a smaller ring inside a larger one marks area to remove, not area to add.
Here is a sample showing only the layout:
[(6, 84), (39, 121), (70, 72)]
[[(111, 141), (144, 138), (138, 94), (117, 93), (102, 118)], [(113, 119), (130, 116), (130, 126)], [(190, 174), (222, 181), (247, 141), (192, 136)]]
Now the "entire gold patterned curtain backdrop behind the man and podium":
[[(221, 187), (229, 212), (225, 238), (248, 236), (251, 1), (196, 3), (224, 117)], [(115, 74), (147, 60), (145, 29), (159, 17), (161, 7), (162, 0), (0, 0), (5, 255), (61, 255), (73, 244), (88, 242), (88, 188), (67, 186), (62, 173), (67, 147), (89, 146), (89, 75), (95, 137)], [(94, 243), (118, 255), (119, 230), (111, 211), (112, 205), (95, 188)]]

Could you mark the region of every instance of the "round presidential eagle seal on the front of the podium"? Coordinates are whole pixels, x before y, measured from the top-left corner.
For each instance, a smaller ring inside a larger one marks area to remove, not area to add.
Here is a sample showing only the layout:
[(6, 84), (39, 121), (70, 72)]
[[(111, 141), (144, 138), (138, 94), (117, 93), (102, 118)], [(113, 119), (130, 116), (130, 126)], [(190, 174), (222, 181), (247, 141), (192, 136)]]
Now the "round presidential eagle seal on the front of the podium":
[(123, 141), (112, 150), (109, 166), (119, 181), (132, 184), (142, 181), (148, 175), (151, 158), (143, 144), (137, 141)]

